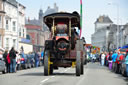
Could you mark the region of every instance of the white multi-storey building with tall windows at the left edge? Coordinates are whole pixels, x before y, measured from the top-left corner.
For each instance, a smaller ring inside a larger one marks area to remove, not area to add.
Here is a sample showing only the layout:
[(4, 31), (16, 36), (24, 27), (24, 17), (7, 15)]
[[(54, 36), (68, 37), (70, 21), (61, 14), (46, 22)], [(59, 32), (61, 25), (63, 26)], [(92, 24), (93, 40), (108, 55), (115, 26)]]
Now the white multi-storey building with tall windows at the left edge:
[(0, 45), (19, 50), (19, 41), (26, 38), (25, 7), (16, 0), (0, 0)]

